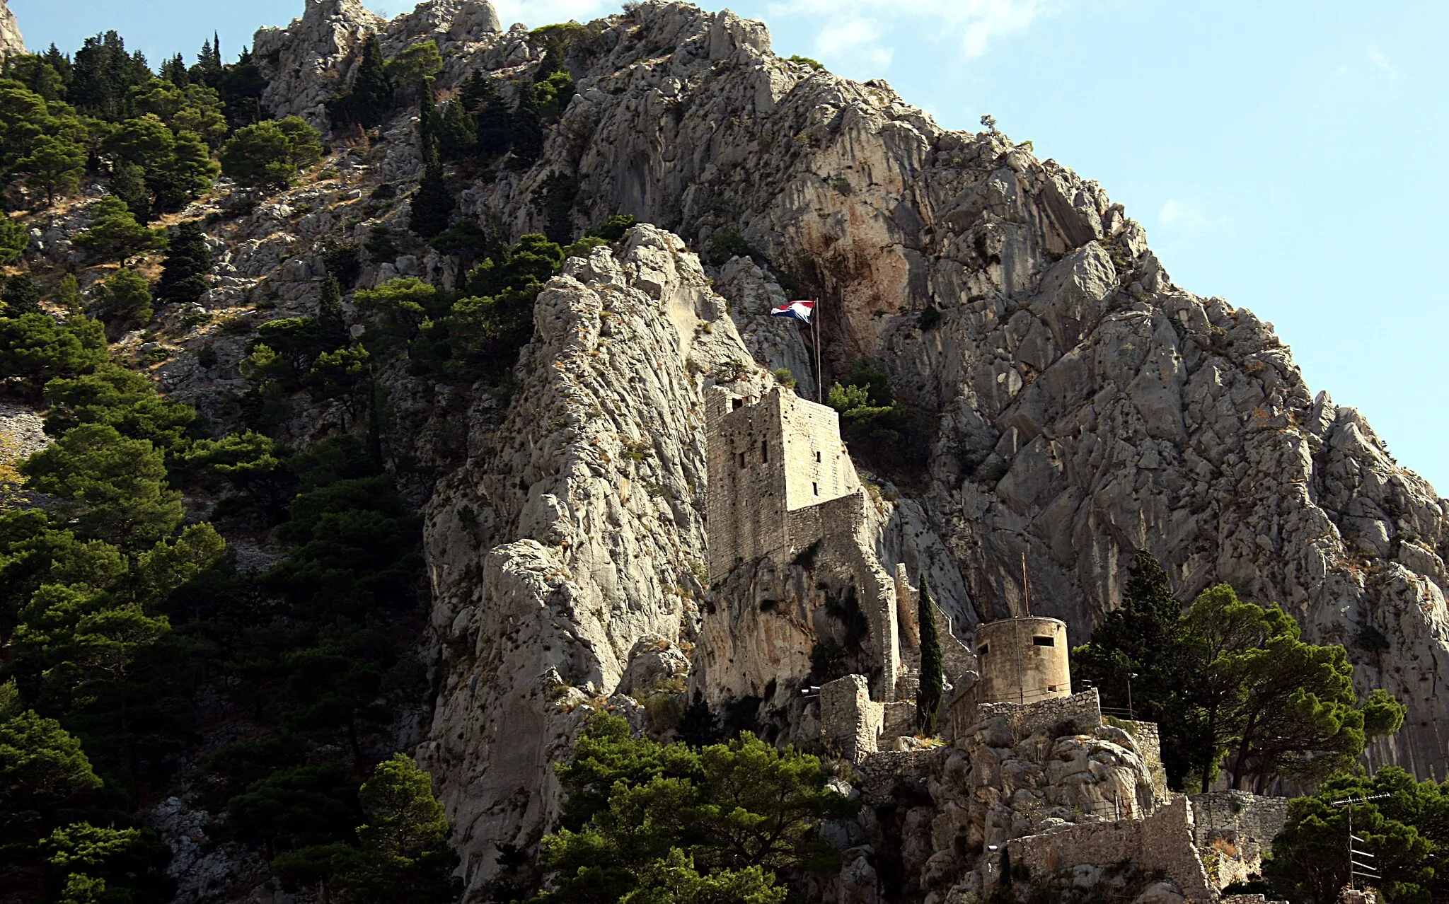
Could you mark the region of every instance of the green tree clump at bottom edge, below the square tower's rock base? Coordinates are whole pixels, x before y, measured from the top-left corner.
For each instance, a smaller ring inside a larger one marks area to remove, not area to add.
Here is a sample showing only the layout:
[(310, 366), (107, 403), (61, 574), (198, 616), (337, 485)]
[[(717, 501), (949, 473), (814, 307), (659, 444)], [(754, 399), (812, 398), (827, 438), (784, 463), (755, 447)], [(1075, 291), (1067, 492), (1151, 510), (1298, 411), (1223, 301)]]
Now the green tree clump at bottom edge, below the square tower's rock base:
[(543, 839), (538, 904), (780, 904), (781, 874), (838, 868), (819, 827), (856, 810), (826, 787), (819, 759), (748, 732), (693, 749), (636, 739), (600, 714), (558, 772), (569, 804)]

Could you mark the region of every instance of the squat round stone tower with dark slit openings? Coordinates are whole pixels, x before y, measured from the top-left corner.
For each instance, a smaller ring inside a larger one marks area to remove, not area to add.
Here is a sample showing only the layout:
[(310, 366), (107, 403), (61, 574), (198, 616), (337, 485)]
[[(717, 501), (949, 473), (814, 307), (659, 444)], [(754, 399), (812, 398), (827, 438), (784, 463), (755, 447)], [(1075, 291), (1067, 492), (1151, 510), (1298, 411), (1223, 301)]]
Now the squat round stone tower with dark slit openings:
[(977, 626), (977, 703), (1036, 703), (1071, 697), (1066, 623), (1003, 619)]

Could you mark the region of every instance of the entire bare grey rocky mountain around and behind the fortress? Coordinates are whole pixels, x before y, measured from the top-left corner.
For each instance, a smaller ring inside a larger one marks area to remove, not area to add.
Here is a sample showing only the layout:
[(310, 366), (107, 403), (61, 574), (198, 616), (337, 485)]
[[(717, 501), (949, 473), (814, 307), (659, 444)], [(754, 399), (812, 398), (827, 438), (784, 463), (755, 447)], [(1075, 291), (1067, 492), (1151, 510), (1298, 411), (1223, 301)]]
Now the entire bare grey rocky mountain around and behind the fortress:
[[(19, 46), (13, 16), (0, 29)], [(391, 20), (309, 0), (256, 33), (264, 106), (326, 129), (369, 35), (385, 55), (435, 41), (443, 97), (481, 70), (511, 99), (545, 54), (484, 0)], [(958, 637), (1020, 610), (1024, 558), (1033, 611), (1082, 642), (1148, 548), (1184, 603), (1230, 582), (1282, 603), (1308, 639), (1346, 645), (1361, 690), (1408, 706), (1371, 763), (1445, 777), (1449, 503), (1359, 411), (1310, 391), (1272, 325), (1174, 284), (1095, 183), (994, 129), (942, 129), (884, 81), (782, 59), (762, 23), (645, 1), (567, 46), (577, 96), (539, 159), (454, 172), (459, 210), (514, 240), (616, 213), (643, 225), (539, 294), (507, 391), (401, 361), (383, 371), (432, 590), (420, 650), (433, 691), (406, 740), (456, 821), (469, 888), (496, 876), (497, 845), (536, 845), (561, 803), (552, 763), (598, 707), (643, 726), (640, 701), (688, 684), (752, 701), (782, 739), (814, 729), (798, 691), (816, 627), (746, 603), (824, 578), (703, 565), (704, 393), (761, 393), (778, 368), (817, 391), (806, 335), (768, 316), (790, 297), (820, 300), (826, 384), (875, 359), (922, 413), (904, 439), (916, 464), (874, 478), (867, 540), (887, 571), (929, 575)], [(377, 190), (406, 196), (422, 175), (416, 119), (332, 136), (316, 180), (239, 219), (220, 216), (242, 197), (225, 184), (188, 210), (217, 214), (204, 317), (164, 314), (172, 339), (120, 346), (167, 343), (156, 378), (203, 410), (245, 390), (246, 330), (232, 327), (314, 313), (329, 248), (406, 223), (409, 203)], [(58, 219), (32, 254), (70, 262), (77, 227)], [(436, 251), (371, 255), (359, 285), (454, 287), (459, 269)], [(306, 443), (335, 422), (330, 403), (303, 398), (284, 432)]]

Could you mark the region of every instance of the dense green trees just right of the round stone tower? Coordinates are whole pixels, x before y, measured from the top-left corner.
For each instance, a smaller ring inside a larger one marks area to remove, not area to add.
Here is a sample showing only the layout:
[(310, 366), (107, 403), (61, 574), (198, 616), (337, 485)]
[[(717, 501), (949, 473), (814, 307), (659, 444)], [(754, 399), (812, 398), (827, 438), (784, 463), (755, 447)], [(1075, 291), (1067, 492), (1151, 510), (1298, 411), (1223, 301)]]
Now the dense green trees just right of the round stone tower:
[(1133, 706), (1159, 723), (1174, 785), (1208, 787), (1220, 765), (1233, 788), (1249, 778), (1259, 790), (1278, 777), (1319, 781), (1352, 765), (1368, 737), (1403, 723), (1387, 692), (1358, 700), (1342, 646), (1303, 642), (1278, 606), (1242, 601), (1219, 585), (1182, 614), (1146, 552), (1120, 608), (1072, 659), (1074, 674), (1094, 681), (1110, 706), (1126, 706), (1126, 675), (1137, 675)]

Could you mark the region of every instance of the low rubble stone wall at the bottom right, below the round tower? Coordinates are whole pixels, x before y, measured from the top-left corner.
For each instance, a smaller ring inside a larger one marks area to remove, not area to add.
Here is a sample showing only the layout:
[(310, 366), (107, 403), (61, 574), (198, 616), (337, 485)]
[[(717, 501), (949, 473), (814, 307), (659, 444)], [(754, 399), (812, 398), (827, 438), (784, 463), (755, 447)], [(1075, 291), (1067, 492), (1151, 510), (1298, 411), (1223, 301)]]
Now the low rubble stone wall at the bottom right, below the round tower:
[(1193, 843), (1193, 810), (1185, 797), (1142, 820), (1082, 823), (1011, 839), (1007, 845), (1011, 863), (1030, 866), (1033, 874), (1132, 861), (1143, 869), (1162, 871), (1194, 904), (1217, 900)]

